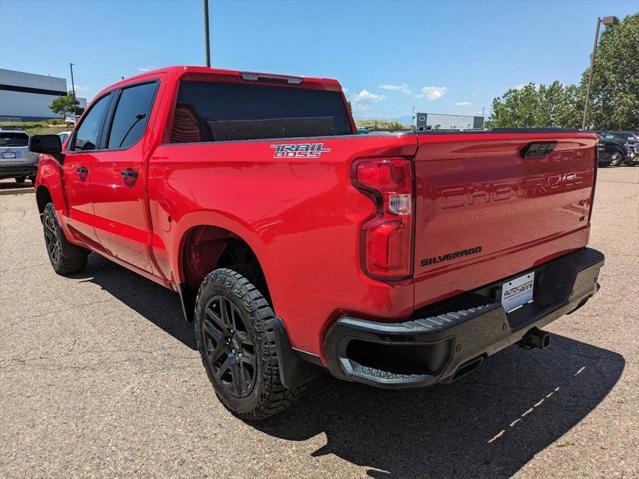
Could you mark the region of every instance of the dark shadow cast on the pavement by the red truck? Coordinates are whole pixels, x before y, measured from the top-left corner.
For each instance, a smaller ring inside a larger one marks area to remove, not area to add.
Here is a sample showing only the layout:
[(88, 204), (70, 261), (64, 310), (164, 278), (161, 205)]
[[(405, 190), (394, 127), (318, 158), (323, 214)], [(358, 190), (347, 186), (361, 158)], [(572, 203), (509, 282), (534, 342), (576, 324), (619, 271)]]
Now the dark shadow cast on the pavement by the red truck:
[[(195, 349), (177, 295), (97, 255), (78, 277)], [(509, 477), (548, 447), (588, 447), (574, 444), (569, 431), (624, 367), (620, 354), (553, 334), (544, 351), (514, 346), (478, 372), (429, 389), (386, 391), (325, 374), (291, 409), (251, 426), (290, 441), (323, 433), (326, 444), (313, 456), (333, 454), (375, 479)]]

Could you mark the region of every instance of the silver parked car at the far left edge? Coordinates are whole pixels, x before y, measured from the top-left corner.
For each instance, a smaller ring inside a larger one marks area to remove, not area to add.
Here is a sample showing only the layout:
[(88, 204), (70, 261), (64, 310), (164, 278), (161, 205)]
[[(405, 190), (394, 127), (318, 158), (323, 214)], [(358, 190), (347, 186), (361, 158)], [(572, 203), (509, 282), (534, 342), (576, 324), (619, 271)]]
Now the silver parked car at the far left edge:
[(40, 155), (29, 151), (29, 135), (20, 130), (0, 130), (0, 179), (26, 178), (35, 182)]

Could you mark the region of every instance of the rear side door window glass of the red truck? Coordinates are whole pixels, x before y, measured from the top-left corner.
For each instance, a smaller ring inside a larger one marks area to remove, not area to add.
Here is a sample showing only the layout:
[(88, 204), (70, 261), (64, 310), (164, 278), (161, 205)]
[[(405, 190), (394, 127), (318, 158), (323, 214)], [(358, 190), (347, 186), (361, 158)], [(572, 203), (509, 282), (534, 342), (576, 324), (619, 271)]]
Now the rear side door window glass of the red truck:
[(107, 142), (109, 150), (128, 148), (142, 138), (156, 86), (157, 82), (144, 83), (122, 90)]

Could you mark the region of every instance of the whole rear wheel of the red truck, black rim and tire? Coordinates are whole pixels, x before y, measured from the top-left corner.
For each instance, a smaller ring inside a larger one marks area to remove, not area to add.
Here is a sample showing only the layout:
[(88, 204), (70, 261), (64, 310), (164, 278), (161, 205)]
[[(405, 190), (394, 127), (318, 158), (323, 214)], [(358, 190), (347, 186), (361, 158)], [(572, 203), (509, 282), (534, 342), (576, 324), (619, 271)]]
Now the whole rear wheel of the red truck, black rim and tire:
[(266, 298), (240, 273), (220, 268), (202, 281), (195, 306), (202, 363), (219, 400), (242, 419), (266, 419), (301, 394), (280, 381), (274, 318)]

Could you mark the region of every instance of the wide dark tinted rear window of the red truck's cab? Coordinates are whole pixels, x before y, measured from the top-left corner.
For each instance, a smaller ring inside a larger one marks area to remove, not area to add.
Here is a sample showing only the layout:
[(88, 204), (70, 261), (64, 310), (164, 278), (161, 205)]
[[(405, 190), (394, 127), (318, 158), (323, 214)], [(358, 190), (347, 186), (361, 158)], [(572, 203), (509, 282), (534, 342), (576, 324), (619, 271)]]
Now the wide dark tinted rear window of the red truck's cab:
[(171, 141), (233, 141), (352, 133), (346, 105), (337, 91), (183, 80)]

